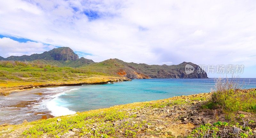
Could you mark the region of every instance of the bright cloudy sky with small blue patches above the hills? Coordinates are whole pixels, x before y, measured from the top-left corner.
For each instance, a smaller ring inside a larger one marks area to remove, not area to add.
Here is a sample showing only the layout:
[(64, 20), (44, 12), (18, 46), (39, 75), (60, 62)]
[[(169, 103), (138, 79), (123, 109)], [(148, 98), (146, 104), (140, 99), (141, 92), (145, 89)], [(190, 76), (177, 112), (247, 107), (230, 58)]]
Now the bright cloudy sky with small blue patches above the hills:
[(95, 62), (243, 64), (256, 78), (255, 24), (255, 0), (3, 0), (0, 56), (68, 46)]

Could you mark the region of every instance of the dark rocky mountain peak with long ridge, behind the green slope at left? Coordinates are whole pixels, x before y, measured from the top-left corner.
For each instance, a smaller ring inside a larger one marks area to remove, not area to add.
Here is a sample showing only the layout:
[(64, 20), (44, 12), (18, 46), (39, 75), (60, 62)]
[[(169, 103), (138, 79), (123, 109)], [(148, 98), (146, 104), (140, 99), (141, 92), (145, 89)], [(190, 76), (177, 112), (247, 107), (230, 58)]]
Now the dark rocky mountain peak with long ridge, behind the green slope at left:
[(46, 51), (41, 54), (32, 54), (30, 56), (10, 56), (7, 58), (0, 57), (0, 60), (19, 60), (19, 61), (33, 61), (43, 64), (55, 65), (55, 66), (70, 66), (79, 67), (81, 65), (87, 65), (94, 63), (91, 59), (80, 58), (69, 47), (54, 48), (50, 51)]

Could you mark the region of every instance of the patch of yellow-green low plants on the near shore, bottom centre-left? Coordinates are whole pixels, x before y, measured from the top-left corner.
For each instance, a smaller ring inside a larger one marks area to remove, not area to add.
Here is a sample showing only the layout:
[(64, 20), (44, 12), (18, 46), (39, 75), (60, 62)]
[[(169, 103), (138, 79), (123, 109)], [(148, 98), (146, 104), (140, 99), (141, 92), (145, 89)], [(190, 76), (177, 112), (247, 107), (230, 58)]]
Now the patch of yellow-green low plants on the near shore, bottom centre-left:
[[(124, 132), (124, 136), (135, 137), (139, 129), (145, 129), (147, 122), (141, 121), (133, 123), (129, 121), (128, 118), (132, 118), (132, 116), (128, 116), (125, 112), (117, 110), (109, 110), (95, 114), (78, 114), (72, 118), (61, 118), (60, 121), (53, 118), (36, 122), (35, 126), (25, 130), (23, 135), (39, 137), (43, 134), (47, 134), (51, 137), (59, 137), (69, 130), (76, 128), (80, 131), (79, 136), (109, 137), (121, 135), (120, 132)], [(118, 120), (122, 121), (118, 124), (113, 123)]]

